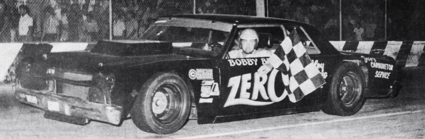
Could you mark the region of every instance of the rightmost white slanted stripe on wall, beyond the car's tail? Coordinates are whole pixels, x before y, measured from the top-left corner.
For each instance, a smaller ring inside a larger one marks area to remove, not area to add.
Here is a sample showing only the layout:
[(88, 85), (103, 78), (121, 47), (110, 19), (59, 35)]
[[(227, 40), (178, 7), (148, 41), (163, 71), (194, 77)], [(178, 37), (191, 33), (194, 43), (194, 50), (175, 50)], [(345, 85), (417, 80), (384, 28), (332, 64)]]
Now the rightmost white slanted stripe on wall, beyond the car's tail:
[(419, 57), (421, 57), (424, 49), (425, 41), (414, 41), (412, 49), (406, 61), (406, 67), (416, 67), (419, 64)]

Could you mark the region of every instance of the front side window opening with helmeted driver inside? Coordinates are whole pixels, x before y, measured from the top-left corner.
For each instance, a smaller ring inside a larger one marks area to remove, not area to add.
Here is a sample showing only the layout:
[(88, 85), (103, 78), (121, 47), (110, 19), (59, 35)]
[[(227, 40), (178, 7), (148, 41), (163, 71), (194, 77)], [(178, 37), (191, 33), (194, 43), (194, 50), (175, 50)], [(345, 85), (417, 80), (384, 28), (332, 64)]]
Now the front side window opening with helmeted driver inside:
[[(248, 40), (244, 39), (252, 35), (258, 36), (258, 40), (252, 42), (255, 43), (253, 50), (249, 48), (250, 45), (246, 45)], [(238, 28), (235, 45), (228, 52), (227, 58), (270, 57), (284, 38), (281, 26)]]

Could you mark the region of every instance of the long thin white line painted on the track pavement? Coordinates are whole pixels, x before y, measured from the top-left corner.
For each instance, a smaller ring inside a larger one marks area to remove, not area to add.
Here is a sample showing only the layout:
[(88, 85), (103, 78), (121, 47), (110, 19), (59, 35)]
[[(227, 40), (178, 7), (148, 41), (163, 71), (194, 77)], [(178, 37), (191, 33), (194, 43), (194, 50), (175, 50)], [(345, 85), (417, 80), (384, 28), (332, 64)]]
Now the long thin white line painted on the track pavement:
[(334, 123), (334, 122), (346, 122), (346, 121), (354, 121), (354, 120), (360, 120), (360, 119), (369, 119), (369, 118), (377, 118), (377, 117), (384, 117), (384, 116), (394, 116), (394, 115), (422, 113), (422, 112), (424, 112), (424, 110), (405, 111), (405, 112), (399, 112), (399, 113), (386, 113), (386, 114), (379, 114), (379, 115), (372, 115), (372, 116), (336, 119), (336, 120), (323, 121), (323, 122), (309, 122), (309, 123), (297, 124), (297, 125), (284, 125), (284, 126), (271, 127), (271, 128), (260, 128), (260, 129), (252, 129), (252, 130), (241, 130), (241, 131), (235, 131), (235, 132), (216, 133), (216, 134), (209, 134), (209, 135), (190, 136), (190, 137), (183, 137), (178, 139), (212, 138), (212, 137), (218, 137), (218, 136), (228, 136), (228, 135), (243, 134), (243, 133), (261, 132), (261, 131), (267, 131), (267, 130), (277, 130), (282, 128), (295, 128), (295, 127), (303, 127), (303, 126), (311, 126), (311, 125), (319, 125), (319, 124), (328, 124), (328, 123)]

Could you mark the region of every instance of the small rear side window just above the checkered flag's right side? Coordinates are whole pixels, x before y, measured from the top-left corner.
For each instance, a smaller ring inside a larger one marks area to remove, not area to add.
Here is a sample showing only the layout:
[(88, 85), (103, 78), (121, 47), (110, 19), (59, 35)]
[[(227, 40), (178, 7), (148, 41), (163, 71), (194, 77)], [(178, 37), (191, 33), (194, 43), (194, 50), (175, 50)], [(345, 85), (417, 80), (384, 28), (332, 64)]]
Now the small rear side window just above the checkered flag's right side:
[(300, 41), (303, 43), (304, 48), (306, 48), (307, 53), (309, 54), (320, 54), (320, 50), (314, 44), (314, 42), (310, 39), (306, 31), (300, 26), (285, 26), (285, 34), (289, 35), (291, 33), (297, 32), (300, 37)]

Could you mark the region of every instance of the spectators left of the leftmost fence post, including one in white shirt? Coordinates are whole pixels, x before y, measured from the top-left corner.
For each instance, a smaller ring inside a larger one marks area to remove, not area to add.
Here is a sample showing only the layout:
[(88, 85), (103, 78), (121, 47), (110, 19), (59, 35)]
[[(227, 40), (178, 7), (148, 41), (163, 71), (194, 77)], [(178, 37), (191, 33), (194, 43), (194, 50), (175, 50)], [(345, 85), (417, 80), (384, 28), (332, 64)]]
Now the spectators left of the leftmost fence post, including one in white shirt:
[(108, 0), (0, 0), (0, 41), (108, 39), (108, 6)]

